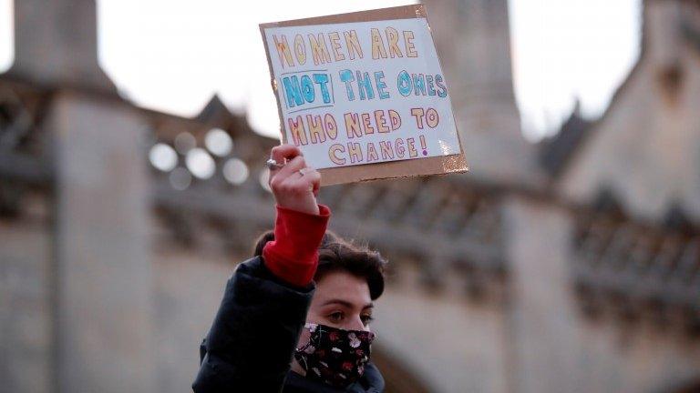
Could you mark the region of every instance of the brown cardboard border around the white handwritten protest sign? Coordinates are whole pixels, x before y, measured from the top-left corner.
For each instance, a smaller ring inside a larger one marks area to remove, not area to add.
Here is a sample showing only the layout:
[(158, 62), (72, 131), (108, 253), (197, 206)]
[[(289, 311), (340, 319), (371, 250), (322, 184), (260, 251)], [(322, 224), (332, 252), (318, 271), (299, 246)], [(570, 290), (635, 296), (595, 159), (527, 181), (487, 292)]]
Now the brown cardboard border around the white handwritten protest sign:
[[(380, 8), (369, 11), (359, 11), (347, 14), (314, 16), (304, 19), (294, 19), (282, 22), (272, 22), (260, 24), (262, 43), (265, 45), (265, 55), (267, 65), (270, 69), (271, 85), (275, 100), (277, 101), (277, 112), (280, 117), (280, 135), (282, 143), (287, 143), (286, 133), (283, 129), (283, 113), (280, 97), (277, 94), (277, 86), (274, 80), (274, 70), (270, 48), (265, 38), (265, 29), (273, 27), (292, 27), (299, 25), (329, 25), (339, 23), (373, 22), (393, 19), (426, 18), (428, 29), (430, 22), (427, 17), (425, 5), (402, 5), (389, 8)], [(432, 29), (430, 29), (432, 36)], [(435, 40), (433, 40), (435, 43)], [(438, 59), (439, 62), (439, 59)], [(442, 68), (442, 65), (440, 65)], [(447, 83), (447, 80), (446, 80)], [(448, 84), (449, 86), (449, 84)], [(454, 116), (454, 108), (452, 109)], [(413, 176), (447, 175), (452, 173), (464, 173), (468, 171), (467, 159), (464, 156), (462, 141), (459, 137), (457, 122), (455, 121), (455, 132), (457, 133), (459, 152), (449, 156), (433, 156), (428, 158), (409, 159), (401, 161), (390, 161), (377, 164), (365, 164), (361, 166), (343, 166), (334, 168), (319, 169), (321, 173), (321, 186), (333, 186), (344, 183), (364, 182), (379, 179), (392, 179)]]

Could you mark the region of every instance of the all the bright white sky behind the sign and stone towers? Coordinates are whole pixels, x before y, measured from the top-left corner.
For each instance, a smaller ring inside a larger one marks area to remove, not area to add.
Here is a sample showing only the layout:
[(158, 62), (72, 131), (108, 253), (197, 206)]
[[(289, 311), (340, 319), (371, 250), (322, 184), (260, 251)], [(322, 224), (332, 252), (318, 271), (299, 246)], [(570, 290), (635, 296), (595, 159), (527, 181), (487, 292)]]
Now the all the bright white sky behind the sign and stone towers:
[[(98, 0), (99, 63), (139, 106), (194, 116), (218, 94), (232, 111), (247, 113), (253, 129), (277, 136), (258, 24), (408, 3)], [(583, 116), (600, 116), (638, 58), (641, 1), (509, 0), (509, 6), (524, 136), (536, 141), (554, 133), (576, 100)], [(0, 0), (0, 71), (12, 64), (11, 10), (12, 0)]]

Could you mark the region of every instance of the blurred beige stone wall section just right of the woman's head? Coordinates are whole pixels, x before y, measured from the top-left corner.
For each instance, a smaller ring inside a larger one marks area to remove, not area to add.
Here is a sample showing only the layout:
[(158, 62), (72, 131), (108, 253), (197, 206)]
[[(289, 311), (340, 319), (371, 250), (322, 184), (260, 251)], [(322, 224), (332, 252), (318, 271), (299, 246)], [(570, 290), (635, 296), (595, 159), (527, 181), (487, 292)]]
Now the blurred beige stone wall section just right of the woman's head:
[(399, 279), (376, 301), (377, 345), (401, 359), (430, 392), (509, 391), (502, 308), (469, 301), (461, 279), (430, 291), (419, 284), (417, 267), (396, 270)]

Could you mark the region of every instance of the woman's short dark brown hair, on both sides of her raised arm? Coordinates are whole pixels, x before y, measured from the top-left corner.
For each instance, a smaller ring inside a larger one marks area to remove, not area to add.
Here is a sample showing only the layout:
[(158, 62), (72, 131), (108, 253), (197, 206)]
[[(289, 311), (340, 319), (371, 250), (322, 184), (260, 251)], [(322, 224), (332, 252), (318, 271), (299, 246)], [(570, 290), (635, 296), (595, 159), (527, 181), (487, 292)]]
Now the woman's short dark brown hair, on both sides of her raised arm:
[[(262, 248), (274, 240), (274, 232), (263, 233), (255, 244), (254, 256), (262, 256)], [(386, 259), (369, 247), (358, 246), (345, 241), (331, 231), (326, 231), (318, 247), (318, 268), (314, 281), (319, 281), (326, 274), (345, 271), (355, 277), (365, 278), (369, 287), (369, 296), (376, 300), (384, 292)]]

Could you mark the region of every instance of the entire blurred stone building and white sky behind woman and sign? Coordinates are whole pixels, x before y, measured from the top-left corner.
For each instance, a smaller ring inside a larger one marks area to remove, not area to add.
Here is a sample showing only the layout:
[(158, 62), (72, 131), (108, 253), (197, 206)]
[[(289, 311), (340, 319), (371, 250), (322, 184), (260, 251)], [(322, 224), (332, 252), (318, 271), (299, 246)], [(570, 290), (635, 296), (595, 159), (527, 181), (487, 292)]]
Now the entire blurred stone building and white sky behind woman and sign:
[[(257, 24), (406, 3), (0, 0), (0, 391), (190, 391), (273, 224)], [(470, 172), (321, 193), (387, 392), (700, 392), (700, 2), (425, 4)]]

